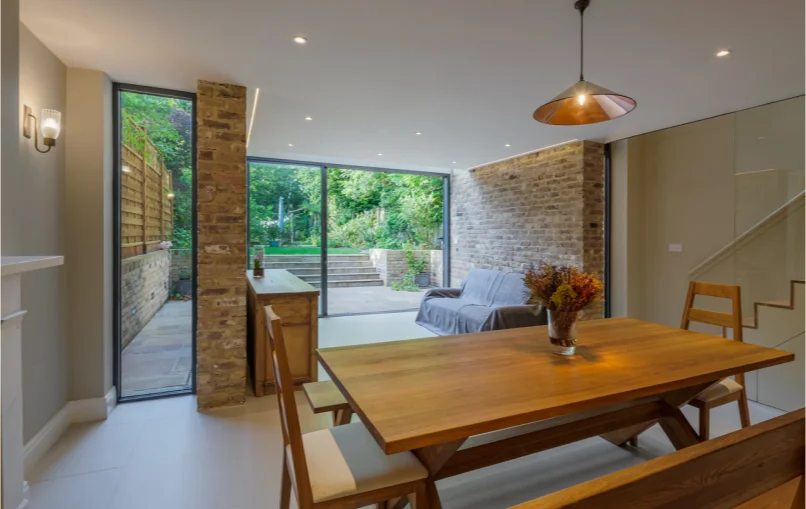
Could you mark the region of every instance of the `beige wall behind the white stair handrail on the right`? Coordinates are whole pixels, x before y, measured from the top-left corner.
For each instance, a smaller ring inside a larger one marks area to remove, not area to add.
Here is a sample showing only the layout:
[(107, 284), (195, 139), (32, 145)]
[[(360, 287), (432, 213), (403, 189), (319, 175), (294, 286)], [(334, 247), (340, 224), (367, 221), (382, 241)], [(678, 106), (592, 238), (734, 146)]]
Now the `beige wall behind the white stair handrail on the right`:
[[(679, 324), (689, 271), (803, 190), (803, 121), (799, 97), (612, 144), (614, 315)], [(802, 224), (800, 212), (698, 279), (742, 286), (745, 314), (787, 298)]]

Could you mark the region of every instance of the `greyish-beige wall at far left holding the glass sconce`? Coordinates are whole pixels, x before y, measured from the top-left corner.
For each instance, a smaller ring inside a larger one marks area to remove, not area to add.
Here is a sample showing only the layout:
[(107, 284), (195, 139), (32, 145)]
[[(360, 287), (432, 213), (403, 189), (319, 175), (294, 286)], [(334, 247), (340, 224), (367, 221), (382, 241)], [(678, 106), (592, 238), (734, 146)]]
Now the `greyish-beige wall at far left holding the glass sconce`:
[[(67, 68), (24, 25), (20, 26), (20, 111), (28, 105), (34, 115), (42, 108), (65, 112)], [(33, 140), (17, 132), (19, 180), (17, 208), (12, 217), (21, 226), (16, 254), (64, 253), (66, 137), (60, 136), (47, 154), (34, 148)], [(41, 139), (40, 139), (41, 143)], [(66, 274), (69, 267), (35, 271), (23, 278), (23, 430), (27, 442), (69, 400)]]

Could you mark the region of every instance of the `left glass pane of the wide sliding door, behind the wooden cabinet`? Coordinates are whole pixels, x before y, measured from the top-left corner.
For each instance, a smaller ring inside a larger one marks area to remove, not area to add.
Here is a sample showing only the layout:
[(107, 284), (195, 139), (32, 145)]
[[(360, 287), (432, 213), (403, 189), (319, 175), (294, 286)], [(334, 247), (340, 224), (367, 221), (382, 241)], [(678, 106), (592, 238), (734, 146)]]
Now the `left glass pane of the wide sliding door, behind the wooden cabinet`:
[[(318, 166), (249, 162), (249, 269), (288, 270), (321, 287), (322, 174)], [(322, 312), (322, 297), (319, 312)]]

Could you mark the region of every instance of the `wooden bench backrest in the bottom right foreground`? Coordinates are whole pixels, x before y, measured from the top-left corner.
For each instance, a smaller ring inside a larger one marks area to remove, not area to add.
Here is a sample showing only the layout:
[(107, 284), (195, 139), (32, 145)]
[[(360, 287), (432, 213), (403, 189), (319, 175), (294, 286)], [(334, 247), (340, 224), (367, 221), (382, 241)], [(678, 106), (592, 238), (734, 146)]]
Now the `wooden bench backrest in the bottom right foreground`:
[(803, 508), (803, 476), (800, 409), (516, 509)]

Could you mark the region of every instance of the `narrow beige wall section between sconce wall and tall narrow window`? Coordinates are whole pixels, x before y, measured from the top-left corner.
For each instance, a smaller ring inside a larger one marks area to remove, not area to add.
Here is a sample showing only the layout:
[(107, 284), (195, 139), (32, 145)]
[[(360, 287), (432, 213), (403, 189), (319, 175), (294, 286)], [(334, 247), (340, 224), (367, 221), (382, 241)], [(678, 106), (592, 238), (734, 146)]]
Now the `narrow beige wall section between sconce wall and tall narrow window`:
[(112, 387), (112, 83), (67, 70), (65, 264), (70, 399)]

